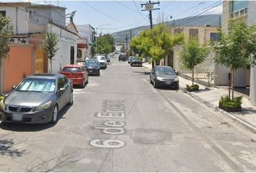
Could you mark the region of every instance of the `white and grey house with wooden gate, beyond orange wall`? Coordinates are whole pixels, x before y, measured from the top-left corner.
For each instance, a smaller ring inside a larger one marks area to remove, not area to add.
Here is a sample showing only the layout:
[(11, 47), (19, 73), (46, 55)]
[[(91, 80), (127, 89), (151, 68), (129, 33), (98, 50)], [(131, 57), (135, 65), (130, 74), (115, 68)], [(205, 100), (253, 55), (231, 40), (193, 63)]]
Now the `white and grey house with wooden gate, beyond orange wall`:
[(74, 63), (77, 55), (76, 33), (66, 28), (66, 8), (30, 2), (7, 2), (0, 4), (0, 12), (10, 17), (14, 26), (11, 42), (35, 45), (35, 73), (48, 72), (49, 62), (44, 55), (45, 33), (58, 37), (56, 56), (53, 58), (53, 73), (67, 63)]

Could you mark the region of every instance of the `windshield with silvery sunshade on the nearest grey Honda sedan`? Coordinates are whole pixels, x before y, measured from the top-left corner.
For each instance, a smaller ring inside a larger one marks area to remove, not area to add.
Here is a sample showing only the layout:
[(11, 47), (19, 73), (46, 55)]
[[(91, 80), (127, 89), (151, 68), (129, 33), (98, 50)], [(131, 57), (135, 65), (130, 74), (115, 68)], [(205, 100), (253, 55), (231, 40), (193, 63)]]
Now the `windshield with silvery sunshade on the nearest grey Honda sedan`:
[(33, 79), (27, 78), (22, 81), (15, 91), (17, 92), (54, 92), (56, 88), (55, 79)]

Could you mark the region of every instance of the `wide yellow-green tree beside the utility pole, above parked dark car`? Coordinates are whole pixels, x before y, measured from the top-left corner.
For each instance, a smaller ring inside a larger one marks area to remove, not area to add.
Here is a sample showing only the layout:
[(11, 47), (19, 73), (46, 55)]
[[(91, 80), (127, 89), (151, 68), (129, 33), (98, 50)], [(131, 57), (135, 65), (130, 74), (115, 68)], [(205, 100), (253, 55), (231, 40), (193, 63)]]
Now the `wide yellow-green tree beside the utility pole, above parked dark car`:
[(174, 45), (183, 43), (183, 38), (182, 34), (171, 35), (165, 24), (159, 24), (153, 30), (143, 30), (132, 40), (131, 48), (135, 53), (141, 53), (143, 58), (150, 56), (153, 62), (159, 64)]

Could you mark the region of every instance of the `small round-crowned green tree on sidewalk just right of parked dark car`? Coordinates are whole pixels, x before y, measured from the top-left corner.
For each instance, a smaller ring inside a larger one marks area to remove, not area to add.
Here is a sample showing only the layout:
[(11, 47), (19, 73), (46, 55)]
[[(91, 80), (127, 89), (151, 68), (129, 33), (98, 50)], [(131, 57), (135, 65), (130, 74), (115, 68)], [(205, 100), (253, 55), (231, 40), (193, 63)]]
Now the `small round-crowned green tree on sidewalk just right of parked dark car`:
[(205, 58), (209, 54), (209, 48), (202, 47), (198, 41), (198, 38), (189, 37), (187, 43), (182, 47), (179, 52), (179, 58), (182, 66), (185, 69), (192, 71), (192, 85), (194, 85), (194, 68), (197, 64), (205, 61)]

